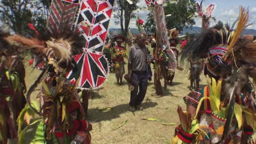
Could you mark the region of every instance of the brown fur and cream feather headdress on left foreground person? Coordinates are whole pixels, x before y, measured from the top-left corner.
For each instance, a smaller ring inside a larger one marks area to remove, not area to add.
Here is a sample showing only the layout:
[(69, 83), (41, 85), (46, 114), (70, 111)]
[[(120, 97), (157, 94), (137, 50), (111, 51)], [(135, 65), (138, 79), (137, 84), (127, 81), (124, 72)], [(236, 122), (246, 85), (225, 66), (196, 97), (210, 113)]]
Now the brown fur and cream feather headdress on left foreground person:
[(36, 38), (13, 35), (5, 39), (10, 44), (19, 44), (23, 50), (31, 49), (40, 55), (46, 56), (52, 51), (59, 62), (71, 62), (72, 56), (82, 53), (84, 46), (84, 41), (79, 38), (78, 33), (66, 29), (56, 33), (40, 32)]

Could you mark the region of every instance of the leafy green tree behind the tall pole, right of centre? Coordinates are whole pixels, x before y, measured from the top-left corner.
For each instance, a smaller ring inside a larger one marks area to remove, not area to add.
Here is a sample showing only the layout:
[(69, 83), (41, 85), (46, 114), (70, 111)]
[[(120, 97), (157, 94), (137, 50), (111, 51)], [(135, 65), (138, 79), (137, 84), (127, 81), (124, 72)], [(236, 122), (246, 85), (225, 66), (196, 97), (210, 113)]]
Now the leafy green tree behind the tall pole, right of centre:
[[(182, 31), (183, 27), (195, 25), (195, 21), (191, 19), (196, 11), (194, 0), (176, 0), (176, 3), (167, 1), (164, 9), (165, 15), (171, 15), (166, 16), (167, 29), (176, 27), (179, 31)], [(149, 32), (155, 32), (155, 23), (152, 13), (148, 14), (145, 25)]]

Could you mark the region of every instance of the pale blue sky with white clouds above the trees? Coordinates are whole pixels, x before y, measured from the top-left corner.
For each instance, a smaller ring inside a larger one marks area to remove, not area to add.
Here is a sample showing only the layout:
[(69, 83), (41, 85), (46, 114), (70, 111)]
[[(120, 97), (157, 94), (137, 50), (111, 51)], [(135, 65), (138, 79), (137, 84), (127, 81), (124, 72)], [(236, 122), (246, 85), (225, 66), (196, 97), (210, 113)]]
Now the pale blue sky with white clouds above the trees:
[[(199, 1), (201, 2), (201, 0)], [(214, 26), (218, 21), (222, 21), (224, 23), (228, 22), (229, 25), (237, 19), (239, 14), (239, 6), (242, 5), (244, 8), (249, 9), (249, 21), (255, 22), (254, 25), (248, 26), (247, 29), (256, 29), (256, 0), (205, 0), (203, 2), (205, 7), (209, 4), (216, 4), (216, 10), (214, 11), (212, 17), (216, 19), (216, 22), (213, 20), (210, 21), (210, 26)], [(146, 7), (146, 3), (144, 0), (139, 0), (137, 3), (139, 7)], [(113, 12), (114, 13), (114, 12)], [(149, 13), (148, 10), (139, 10), (136, 11), (138, 13), (140, 19), (146, 21), (147, 14)], [(201, 18), (196, 17), (194, 18), (196, 24), (194, 26), (201, 27)], [(114, 19), (110, 20), (109, 28), (120, 28), (120, 25), (114, 24)], [(132, 19), (130, 21), (130, 28), (137, 28), (136, 27), (136, 20)]]

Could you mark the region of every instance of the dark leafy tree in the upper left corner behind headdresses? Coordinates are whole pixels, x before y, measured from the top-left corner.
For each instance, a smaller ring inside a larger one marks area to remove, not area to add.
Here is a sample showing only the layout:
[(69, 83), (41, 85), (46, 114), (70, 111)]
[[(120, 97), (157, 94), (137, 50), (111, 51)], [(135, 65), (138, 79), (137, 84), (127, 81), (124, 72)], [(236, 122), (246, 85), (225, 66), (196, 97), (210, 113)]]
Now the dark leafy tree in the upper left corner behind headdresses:
[(0, 2), (0, 18), (15, 33), (31, 34), (28, 23), (37, 28), (45, 27), (50, 0), (8, 0)]

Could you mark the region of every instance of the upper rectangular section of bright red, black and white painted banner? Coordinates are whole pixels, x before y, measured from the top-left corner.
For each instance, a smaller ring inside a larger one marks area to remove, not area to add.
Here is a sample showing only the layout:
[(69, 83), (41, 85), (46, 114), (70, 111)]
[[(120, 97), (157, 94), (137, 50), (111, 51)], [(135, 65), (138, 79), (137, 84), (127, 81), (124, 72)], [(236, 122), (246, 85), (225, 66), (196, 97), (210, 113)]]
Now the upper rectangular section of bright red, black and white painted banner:
[(77, 31), (86, 41), (85, 49), (102, 51), (114, 0), (84, 0), (80, 4)]

